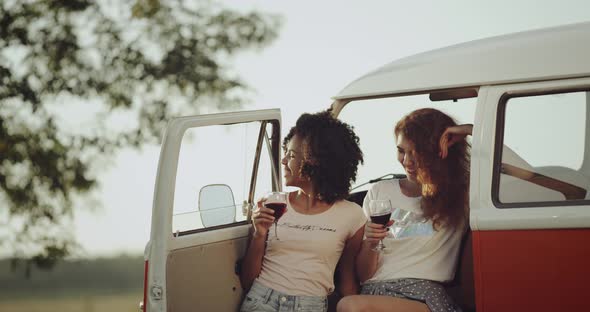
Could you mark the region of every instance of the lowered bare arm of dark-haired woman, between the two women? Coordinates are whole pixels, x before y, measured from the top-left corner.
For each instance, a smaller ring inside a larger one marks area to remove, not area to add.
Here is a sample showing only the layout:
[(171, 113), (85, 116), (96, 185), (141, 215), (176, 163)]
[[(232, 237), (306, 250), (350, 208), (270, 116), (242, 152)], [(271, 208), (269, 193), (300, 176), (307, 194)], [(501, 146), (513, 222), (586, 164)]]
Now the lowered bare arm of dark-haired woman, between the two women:
[(354, 266), (364, 234), (365, 228), (361, 227), (353, 236), (346, 240), (346, 245), (344, 245), (340, 263), (338, 264), (338, 290), (343, 297), (358, 293), (358, 282)]

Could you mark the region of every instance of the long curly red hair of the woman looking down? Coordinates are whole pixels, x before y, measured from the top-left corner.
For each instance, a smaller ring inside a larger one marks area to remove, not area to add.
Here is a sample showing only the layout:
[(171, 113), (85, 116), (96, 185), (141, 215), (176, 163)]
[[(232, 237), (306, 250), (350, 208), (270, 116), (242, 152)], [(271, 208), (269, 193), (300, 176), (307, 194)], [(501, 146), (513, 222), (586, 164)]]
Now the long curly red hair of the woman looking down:
[(467, 218), (469, 188), (469, 143), (449, 148), (447, 158), (439, 157), (439, 139), (457, 123), (445, 113), (424, 108), (411, 112), (395, 125), (416, 149), (417, 179), (422, 184), (421, 208), (433, 225), (455, 227)]

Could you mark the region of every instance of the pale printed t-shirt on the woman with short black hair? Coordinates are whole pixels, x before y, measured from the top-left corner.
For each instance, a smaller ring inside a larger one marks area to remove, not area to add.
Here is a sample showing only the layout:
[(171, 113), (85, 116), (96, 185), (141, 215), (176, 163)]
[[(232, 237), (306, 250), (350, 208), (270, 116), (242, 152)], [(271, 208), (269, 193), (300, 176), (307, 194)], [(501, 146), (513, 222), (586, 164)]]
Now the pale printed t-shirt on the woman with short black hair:
[(347, 200), (328, 210), (305, 215), (287, 203), (287, 211), (274, 225), (257, 281), (293, 296), (327, 296), (334, 291), (334, 270), (346, 240), (366, 223), (361, 207)]

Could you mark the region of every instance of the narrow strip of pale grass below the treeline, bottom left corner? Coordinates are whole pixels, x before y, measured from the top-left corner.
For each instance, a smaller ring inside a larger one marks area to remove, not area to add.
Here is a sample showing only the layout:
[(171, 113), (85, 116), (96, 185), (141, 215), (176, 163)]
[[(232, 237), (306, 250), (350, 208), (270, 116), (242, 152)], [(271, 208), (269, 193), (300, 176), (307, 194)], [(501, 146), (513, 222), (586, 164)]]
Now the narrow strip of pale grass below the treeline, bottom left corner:
[(85, 294), (50, 297), (18, 297), (0, 299), (0, 311), (5, 312), (137, 312), (141, 292), (111, 295)]

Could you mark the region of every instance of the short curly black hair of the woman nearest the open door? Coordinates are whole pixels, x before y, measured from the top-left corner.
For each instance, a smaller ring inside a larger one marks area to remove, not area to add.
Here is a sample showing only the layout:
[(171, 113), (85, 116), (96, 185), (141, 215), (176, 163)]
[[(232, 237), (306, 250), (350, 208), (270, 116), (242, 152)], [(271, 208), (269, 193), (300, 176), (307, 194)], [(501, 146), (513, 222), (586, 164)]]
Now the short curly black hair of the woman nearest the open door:
[(357, 167), (363, 162), (353, 128), (329, 111), (305, 113), (283, 139), (283, 150), (287, 150), (295, 135), (304, 146), (299, 174), (310, 179), (318, 199), (332, 204), (347, 198), (351, 183), (356, 180)]

